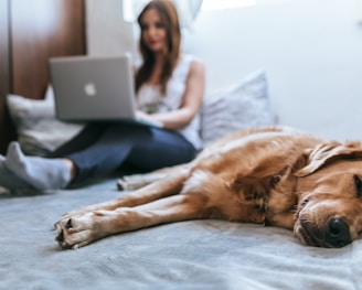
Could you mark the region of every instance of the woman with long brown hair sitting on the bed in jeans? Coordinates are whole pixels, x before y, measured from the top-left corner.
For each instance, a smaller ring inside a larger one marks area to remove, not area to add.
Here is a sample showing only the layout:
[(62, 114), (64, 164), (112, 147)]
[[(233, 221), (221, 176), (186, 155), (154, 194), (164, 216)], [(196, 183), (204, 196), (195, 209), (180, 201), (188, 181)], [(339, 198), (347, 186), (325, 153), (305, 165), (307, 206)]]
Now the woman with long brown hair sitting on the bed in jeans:
[(88, 125), (51, 154), (26, 157), (18, 142), (0, 155), (0, 186), (9, 190), (64, 189), (98, 178), (125, 164), (141, 171), (192, 160), (201, 148), (199, 111), (204, 93), (204, 66), (180, 51), (181, 33), (171, 1), (150, 1), (141, 11), (136, 68), (139, 117), (162, 123), (151, 128), (131, 123)]

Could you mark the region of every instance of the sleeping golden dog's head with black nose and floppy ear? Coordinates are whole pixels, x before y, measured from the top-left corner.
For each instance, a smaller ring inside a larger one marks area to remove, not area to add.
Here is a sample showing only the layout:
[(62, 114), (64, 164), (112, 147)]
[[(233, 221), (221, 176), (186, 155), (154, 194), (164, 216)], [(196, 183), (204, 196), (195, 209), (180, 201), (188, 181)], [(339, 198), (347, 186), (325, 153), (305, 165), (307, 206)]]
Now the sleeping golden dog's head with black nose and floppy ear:
[(362, 232), (362, 143), (324, 143), (296, 175), (295, 235), (305, 245), (343, 247)]

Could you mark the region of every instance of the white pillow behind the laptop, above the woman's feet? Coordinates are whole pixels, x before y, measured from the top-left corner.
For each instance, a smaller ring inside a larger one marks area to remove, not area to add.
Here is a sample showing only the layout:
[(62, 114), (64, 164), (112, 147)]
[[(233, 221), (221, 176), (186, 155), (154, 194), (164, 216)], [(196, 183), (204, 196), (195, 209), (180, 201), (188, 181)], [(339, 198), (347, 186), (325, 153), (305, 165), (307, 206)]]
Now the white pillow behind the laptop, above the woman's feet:
[(47, 87), (44, 99), (8, 95), (7, 105), (15, 126), (18, 141), (26, 154), (46, 155), (78, 133), (83, 125), (55, 118), (54, 93)]

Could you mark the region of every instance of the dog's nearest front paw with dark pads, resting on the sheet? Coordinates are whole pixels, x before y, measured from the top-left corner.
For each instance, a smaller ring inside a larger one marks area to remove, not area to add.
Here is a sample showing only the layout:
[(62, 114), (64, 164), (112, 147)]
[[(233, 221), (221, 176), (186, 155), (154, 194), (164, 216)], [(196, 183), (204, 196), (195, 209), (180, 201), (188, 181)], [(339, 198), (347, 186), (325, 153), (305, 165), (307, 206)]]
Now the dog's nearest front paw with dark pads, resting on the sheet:
[[(63, 216), (55, 223), (55, 240), (63, 249), (76, 249), (88, 245), (102, 237), (99, 221), (97, 217), (100, 213), (91, 212), (83, 215)], [(100, 214), (102, 216), (102, 214)]]

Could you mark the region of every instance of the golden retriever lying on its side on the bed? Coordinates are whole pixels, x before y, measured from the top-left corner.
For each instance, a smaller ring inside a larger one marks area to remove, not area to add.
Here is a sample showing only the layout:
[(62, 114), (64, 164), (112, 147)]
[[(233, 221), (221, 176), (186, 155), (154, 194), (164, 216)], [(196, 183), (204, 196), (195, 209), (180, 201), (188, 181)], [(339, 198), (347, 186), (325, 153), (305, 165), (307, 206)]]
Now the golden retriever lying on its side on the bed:
[(361, 142), (249, 129), (160, 172), (129, 194), (63, 215), (55, 224), (60, 246), (198, 218), (284, 227), (316, 247), (343, 247), (362, 230)]

